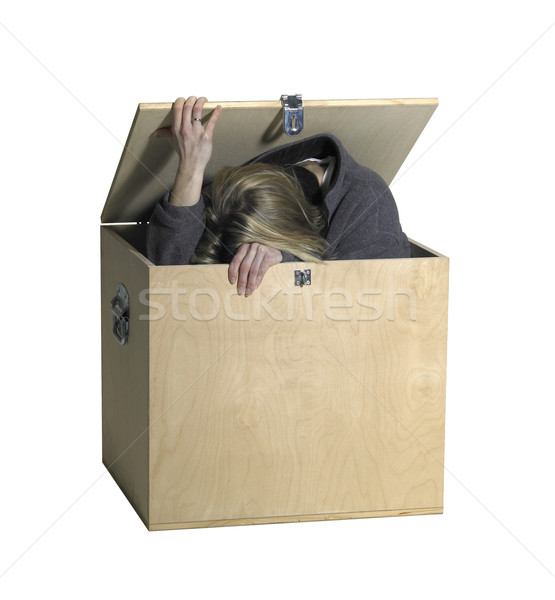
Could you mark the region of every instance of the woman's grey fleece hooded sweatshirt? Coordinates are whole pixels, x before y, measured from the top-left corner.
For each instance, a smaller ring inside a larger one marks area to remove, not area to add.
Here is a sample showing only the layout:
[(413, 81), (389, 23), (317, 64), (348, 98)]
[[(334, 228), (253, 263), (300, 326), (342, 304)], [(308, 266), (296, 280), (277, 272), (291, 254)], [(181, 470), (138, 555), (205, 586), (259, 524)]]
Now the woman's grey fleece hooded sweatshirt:
[[(323, 196), (328, 214), (325, 239), (336, 260), (407, 258), (410, 244), (399, 223), (393, 195), (374, 171), (359, 165), (332, 135), (292, 142), (257, 156), (252, 163), (295, 165), (309, 158), (335, 157)], [(307, 171), (308, 173), (308, 171)], [(147, 229), (147, 256), (156, 265), (189, 264), (204, 231), (204, 196), (191, 207), (173, 206), (169, 192), (156, 204)], [(282, 252), (283, 261), (295, 257)]]

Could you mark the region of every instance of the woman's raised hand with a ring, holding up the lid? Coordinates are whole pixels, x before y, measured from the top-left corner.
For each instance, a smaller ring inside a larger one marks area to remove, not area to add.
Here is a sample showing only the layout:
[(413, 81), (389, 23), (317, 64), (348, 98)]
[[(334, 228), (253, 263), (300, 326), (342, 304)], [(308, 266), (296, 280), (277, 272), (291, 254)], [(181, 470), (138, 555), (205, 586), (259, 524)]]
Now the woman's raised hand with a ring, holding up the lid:
[(179, 156), (179, 167), (170, 196), (176, 206), (193, 206), (200, 199), (204, 170), (212, 156), (212, 135), (222, 112), (218, 105), (205, 126), (202, 107), (206, 98), (178, 98), (173, 104), (171, 127), (157, 129), (155, 137), (167, 139)]

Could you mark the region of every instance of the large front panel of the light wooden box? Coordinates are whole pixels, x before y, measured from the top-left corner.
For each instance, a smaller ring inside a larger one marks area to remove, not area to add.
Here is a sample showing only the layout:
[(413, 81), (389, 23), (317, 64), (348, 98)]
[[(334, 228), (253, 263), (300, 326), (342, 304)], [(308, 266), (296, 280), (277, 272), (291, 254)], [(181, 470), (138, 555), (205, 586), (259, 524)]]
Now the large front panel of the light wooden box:
[(151, 528), (441, 512), (447, 266), (156, 269)]

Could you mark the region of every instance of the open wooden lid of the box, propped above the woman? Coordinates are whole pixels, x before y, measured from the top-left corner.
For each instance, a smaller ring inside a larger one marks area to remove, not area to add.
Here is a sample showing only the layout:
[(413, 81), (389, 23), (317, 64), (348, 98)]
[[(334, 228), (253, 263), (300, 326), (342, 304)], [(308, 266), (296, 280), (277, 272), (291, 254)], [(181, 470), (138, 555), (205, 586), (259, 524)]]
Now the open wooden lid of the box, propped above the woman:
[[(285, 133), (288, 110), (281, 100), (207, 103), (203, 120), (218, 104), (223, 111), (214, 131), (205, 183), (224, 166), (238, 166), (277, 146), (327, 133), (389, 185), (436, 109), (437, 100), (302, 101), (303, 128), (295, 136)], [(157, 200), (172, 187), (177, 154), (167, 140), (151, 137), (156, 129), (171, 124), (171, 109), (172, 104), (167, 103), (139, 104), (104, 205), (102, 223), (148, 221)], [(300, 125), (294, 119), (295, 126)]]

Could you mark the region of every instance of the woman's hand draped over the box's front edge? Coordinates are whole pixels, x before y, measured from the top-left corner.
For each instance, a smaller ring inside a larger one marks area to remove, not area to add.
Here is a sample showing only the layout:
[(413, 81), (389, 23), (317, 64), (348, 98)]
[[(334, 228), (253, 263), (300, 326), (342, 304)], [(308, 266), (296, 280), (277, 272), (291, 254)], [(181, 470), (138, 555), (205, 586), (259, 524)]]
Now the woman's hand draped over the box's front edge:
[(243, 244), (229, 264), (229, 283), (237, 281), (237, 293), (250, 296), (262, 282), (266, 271), (281, 262), (279, 250), (256, 242)]

